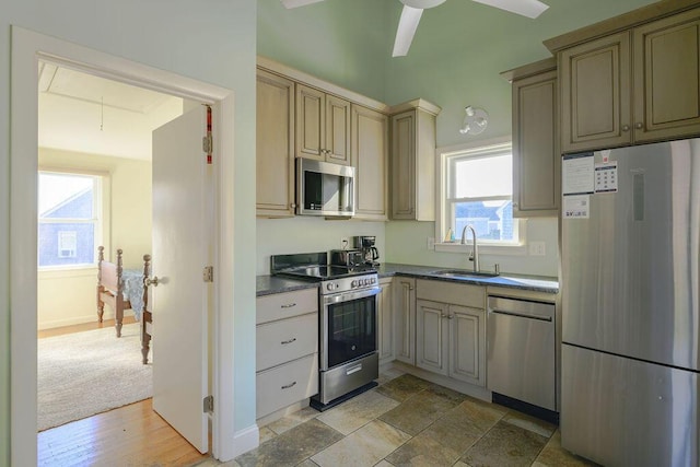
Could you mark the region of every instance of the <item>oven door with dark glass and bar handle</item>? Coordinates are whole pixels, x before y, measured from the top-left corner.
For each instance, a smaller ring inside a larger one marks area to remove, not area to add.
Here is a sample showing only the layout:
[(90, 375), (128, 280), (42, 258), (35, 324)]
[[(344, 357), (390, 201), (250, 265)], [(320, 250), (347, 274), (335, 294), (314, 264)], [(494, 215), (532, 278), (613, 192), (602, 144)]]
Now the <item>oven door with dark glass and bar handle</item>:
[(376, 352), (378, 287), (323, 297), (320, 370)]

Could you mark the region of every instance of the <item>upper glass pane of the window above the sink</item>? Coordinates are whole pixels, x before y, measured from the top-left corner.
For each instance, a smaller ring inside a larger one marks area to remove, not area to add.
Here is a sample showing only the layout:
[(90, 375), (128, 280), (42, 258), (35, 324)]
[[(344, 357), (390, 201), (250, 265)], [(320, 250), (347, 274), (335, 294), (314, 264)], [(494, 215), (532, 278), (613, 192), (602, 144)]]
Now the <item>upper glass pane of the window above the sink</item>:
[(513, 170), (511, 154), (460, 159), (455, 162), (455, 198), (511, 196)]

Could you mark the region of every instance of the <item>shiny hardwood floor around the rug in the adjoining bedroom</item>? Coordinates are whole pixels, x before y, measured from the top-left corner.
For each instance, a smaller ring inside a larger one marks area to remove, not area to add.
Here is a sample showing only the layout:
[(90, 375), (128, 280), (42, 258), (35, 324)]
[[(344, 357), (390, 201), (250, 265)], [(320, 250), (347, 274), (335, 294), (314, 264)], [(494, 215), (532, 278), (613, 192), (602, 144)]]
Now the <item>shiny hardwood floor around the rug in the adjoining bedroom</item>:
[[(133, 323), (133, 318), (124, 318)], [(114, 327), (114, 319), (37, 332), (39, 339)], [(75, 397), (80, 397), (77, 395)], [(37, 434), (39, 466), (190, 466), (207, 457), (183, 439), (147, 399)]]

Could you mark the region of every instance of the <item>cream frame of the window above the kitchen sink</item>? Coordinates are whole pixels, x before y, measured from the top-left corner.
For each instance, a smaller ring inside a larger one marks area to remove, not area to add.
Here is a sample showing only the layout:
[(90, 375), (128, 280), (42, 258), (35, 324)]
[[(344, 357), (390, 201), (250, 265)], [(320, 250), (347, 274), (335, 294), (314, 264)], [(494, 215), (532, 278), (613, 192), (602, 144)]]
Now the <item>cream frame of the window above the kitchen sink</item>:
[[(452, 222), (454, 202), (468, 200), (499, 200), (508, 199), (504, 196), (491, 196), (479, 198), (451, 198), (451, 187), (455, 184), (453, 167), (459, 159), (465, 157), (488, 157), (509, 152), (512, 154), (511, 138), (497, 138), (490, 140), (475, 141), (466, 144), (438, 148), (435, 150), (435, 173), (436, 180), (436, 217), (435, 217), (435, 241), (436, 252), (446, 253), (468, 253), (471, 250), (471, 236), (467, 235), (465, 245), (460, 244), (462, 232), (455, 232), (455, 241), (445, 241), (448, 222)], [(511, 194), (510, 199), (513, 199)], [(481, 254), (523, 256), (526, 255), (526, 227), (525, 219), (513, 218), (513, 229), (516, 240), (513, 242), (492, 241), (479, 238), (479, 250)]]

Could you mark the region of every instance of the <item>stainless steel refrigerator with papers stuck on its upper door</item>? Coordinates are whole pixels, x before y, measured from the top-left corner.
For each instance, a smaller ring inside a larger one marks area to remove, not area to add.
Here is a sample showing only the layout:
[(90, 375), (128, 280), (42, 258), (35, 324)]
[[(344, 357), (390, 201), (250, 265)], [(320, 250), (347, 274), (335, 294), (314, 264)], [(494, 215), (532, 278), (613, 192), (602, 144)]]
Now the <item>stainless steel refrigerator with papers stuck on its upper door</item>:
[(562, 160), (561, 441), (700, 465), (700, 139)]

